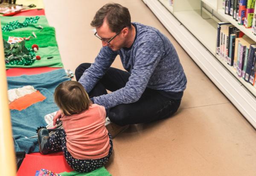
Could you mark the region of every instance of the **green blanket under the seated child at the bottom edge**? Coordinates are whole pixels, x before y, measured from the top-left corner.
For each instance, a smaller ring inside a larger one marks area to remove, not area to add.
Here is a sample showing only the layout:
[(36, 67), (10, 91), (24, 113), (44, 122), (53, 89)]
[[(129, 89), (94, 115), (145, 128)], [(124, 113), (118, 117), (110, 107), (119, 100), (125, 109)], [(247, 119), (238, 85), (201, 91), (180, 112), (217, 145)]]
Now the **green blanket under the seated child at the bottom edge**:
[(108, 170), (105, 169), (105, 167), (100, 167), (99, 169), (96, 169), (87, 173), (72, 171), (72, 172), (62, 172), (59, 174), (61, 176), (111, 176), (111, 174), (108, 172)]

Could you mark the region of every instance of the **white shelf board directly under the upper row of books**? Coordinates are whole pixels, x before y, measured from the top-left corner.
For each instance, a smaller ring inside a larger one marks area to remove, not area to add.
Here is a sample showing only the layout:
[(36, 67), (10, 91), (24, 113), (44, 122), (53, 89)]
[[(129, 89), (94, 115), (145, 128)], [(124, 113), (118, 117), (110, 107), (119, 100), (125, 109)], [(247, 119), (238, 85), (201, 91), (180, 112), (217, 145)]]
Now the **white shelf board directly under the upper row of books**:
[(245, 28), (243, 25), (239, 25), (232, 16), (225, 14), (224, 9), (218, 9), (218, 14), (221, 15), (221, 17), (223, 17), (227, 22), (230, 22), (244, 32), (244, 34), (250, 37), (252, 40), (256, 41), (256, 35), (253, 34), (252, 28)]

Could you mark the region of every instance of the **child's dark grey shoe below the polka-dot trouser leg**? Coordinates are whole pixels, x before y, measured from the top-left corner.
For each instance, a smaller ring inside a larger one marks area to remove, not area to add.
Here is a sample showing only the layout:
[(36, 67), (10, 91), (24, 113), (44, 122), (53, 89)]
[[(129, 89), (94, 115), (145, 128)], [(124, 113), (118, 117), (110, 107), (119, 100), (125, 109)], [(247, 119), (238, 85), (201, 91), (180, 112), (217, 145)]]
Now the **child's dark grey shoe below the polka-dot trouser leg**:
[(46, 128), (41, 128), (38, 130), (39, 151), (43, 155), (49, 153), (49, 150), (46, 147), (48, 138), (49, 138), (49, 131)]

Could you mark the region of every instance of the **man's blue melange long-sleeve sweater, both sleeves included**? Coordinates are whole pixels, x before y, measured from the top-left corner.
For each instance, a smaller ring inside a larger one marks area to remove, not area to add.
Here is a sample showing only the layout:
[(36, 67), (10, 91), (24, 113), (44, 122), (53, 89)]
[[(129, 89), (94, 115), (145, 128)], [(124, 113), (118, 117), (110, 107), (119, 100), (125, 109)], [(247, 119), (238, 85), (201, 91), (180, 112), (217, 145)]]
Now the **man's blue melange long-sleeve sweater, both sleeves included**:
[(146, 87), (168, 92), (183, 92), (186, 88), (186, 75), (169, 39), (153, 27), (140, 23), (133, 25), (136, 38), (131, 48), (114, 52), (108, 46), (102, 47), (95, 62), (79, 79), (85, 90), (90, 92), (116, 55), (120, 55), (123, 67), (131, 76), (125, 87), (93, 98), (94, 103), (106, 109), (138, 101)]

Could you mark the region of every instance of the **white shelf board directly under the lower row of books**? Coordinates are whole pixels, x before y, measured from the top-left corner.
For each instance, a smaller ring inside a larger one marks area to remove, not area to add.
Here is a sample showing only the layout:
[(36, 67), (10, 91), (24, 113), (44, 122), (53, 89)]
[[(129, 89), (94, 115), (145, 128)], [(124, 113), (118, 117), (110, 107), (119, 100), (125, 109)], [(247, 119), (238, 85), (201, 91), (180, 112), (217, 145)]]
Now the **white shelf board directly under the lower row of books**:
[(215, 57), (223, 64), (223, 66), (225, 66), (229, 70), (230, 73), (232, 73), (241, 82), (244, 87), (246, 87), (256, 97), (256, 89), (250, 83), (244, 81), (243, 78), (239, 77), (233, 66), (228, 65), (225, 61), (221, 59), (219, 55), (216, 54)]

